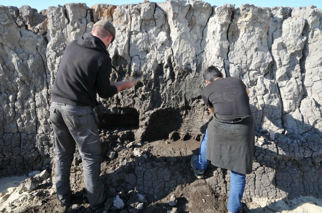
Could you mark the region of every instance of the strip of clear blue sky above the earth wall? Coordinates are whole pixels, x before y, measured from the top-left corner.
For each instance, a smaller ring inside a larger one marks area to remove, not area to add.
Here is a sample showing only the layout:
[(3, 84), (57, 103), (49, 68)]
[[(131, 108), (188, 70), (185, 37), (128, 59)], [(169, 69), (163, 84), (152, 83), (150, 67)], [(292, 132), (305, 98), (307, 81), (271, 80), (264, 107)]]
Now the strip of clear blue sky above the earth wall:
[[(58, 4), (64, 5), (70, 2), (80, 2), (86, 3), (88, 7), (91, 7), (94, 4), (105, 3), (105, 4), (137, 4), (139, 2), (143, 2), (144, 0), (58, 0), (58, 1), (40, 1), (40, 0), (1, 0), (0, 4), (5, 6), (16, 6), (20, 7), (24, 4), (31, 6), (32, 8), (36, 8), (38, 12), (42, 9), (47, 9), (48, 6), (57, 6)], [(166, 0), (150, 0), (150, 2), (165, 2)], [(300, 6), (308, 6), (315, 5), (318, 8), (322, 8), (322, 0), (204, 0), (205, 2), (210, 3), (211, 5), (222, 5), (226, 3), (235, 4), (235, 7), (238, 7), (241, 4), (254, 4), (255, 6), (261, 7), (273, 7), (273, 6), (289, 6), (289, 7), (300, 7)]]

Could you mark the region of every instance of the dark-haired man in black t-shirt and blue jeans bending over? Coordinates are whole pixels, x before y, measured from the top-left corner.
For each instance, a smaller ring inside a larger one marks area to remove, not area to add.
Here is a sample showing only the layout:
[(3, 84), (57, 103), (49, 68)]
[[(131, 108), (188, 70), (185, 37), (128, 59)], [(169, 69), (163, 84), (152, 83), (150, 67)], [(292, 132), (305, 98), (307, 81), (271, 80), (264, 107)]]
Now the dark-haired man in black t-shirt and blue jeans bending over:
[(245, 174), (252, 172), (254, 155), (254, 116), (249, 106), (249, 90), (239, 78), (223, 78), (214, 66), (204, 73), (207, 86), (202, 98), (213, 115), (199, 149), (191, 158), (197, 178), (204, 177), (209, 161), (230, 169), (229, 213), (242, 212)]

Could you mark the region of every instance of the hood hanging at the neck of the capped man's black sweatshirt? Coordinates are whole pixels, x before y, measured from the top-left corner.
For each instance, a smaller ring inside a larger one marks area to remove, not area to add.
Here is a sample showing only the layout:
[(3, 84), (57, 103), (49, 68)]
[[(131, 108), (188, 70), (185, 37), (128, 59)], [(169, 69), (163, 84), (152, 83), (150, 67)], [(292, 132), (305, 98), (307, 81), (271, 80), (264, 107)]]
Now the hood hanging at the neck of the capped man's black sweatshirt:
[(93, 36), (90, 33), (85, 33), (84, 35), (82, 35), (77, 40), (77, 44), (79, 44), (83, 47), (89, 48), (89, 49), (104, 52), (107, 55), (109, 55), (103, 41), (101, 39), (97, 38), (96, 36)]

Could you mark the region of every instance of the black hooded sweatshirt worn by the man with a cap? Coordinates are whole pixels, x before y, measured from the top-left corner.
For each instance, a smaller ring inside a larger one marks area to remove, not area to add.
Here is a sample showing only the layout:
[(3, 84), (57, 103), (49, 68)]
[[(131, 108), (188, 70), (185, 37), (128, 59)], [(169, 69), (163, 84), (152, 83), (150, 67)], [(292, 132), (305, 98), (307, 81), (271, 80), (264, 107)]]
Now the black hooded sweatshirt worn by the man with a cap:
[(111, 58), (104, 43), (86, 33), (65, 49), (52, 86), (52, 101), (70, 105), (97, 103), (96, 93), (109, 98), (117, 93), (111, 86)]

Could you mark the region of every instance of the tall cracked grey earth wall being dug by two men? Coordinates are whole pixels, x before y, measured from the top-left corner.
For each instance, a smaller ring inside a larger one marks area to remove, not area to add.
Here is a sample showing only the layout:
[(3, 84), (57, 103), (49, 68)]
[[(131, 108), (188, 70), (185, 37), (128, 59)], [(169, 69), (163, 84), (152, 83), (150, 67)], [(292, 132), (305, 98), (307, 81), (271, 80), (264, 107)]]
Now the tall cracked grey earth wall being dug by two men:
[[(0, 6), (0, 176), (51, 167), (48, 108), (60, 60), (101, 19), (117, 30), (108, 48), (112, 79), (145, 78), (99, 98), (100, 128), (126, 128), (136, 141), (200, 139), (211, 118), (202, 76), (214, 65), (248, 85), (257, 134), (269, 135), (256, 139), (244, 197), (322, 197), (322, 10), (315, 6), (79, 3), (39, 13)], [(131, 183), (138, 190), (151, 175), (141, 170)], [(207, 183), (227, 193), (229, 171), (215, 169)]]

